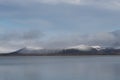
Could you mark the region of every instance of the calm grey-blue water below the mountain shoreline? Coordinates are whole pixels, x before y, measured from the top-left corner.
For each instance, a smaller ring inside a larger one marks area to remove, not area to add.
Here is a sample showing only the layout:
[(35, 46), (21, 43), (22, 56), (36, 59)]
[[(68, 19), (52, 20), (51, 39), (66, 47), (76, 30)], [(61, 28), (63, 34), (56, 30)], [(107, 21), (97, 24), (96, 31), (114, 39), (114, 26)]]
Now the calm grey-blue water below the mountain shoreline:
[(0, 57), (0, 80), (120, 80), (120, 56)]

